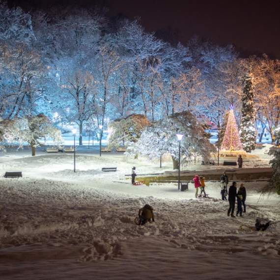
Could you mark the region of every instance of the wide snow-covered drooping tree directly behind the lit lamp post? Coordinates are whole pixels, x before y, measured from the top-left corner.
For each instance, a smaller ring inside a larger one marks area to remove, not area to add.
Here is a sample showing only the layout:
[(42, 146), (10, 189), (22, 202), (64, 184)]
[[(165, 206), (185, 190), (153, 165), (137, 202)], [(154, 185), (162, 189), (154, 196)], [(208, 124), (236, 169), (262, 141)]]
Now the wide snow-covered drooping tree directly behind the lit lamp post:
[(181, 140), (181, 164), (189, 163), (195, 154), (205, 162), (216, 148), (203, 136), (204, 130), (190, 111), (169, 115), (147, 126), (138, 142), (128, 148), (126, 156), (145, 155), (149, 160), (160, 158), (169, 153), (173, 168), (178, 168), (179, 142), (176, 134), (183, 134)]

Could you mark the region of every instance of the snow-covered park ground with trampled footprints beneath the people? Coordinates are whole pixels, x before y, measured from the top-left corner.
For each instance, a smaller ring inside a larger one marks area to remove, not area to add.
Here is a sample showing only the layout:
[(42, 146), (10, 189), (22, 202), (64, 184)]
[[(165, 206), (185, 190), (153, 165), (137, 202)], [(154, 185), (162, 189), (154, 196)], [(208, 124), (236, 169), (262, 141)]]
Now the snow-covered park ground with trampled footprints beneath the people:
[[(194, 184), (187, 192), (175, 184), (132, 186), (125, 174), (133, 166), (144, 174), (171, 171), (172, 164), (159, 168), (98, 151), (78, 147), (75, 173), (73, 154), (43, 148), (35, 157), (28, 149), (0, 154), (0, 175), (23, 172), (0, 178), (1, 280), (280, 279), (280, 223), (263, 233), (239, 230), (256, 218), (280, 221), (280, 197), (257, 193), (267, 181), (244, 182), (247, 212), (230, 218), (218, 182), (206, 181), (211, 198), (203, 199), (195, 198)], [(269, 166), (263, 150), (253, 153), (263, 158), (259, 166)], [(188, 167), (198, 175), (205, 168)], [(155, 223), (138, 226), (134, 219), (146, 203)]]

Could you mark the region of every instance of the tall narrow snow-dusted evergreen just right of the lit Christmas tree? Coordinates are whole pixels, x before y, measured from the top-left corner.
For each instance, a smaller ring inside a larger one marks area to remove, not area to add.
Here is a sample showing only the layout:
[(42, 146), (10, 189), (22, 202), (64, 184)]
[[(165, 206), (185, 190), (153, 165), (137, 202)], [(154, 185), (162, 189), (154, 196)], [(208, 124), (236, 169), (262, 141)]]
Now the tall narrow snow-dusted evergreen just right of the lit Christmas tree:
[[(256, 147), (256, 130), (254, 128), (255, 111), (254, 111), (254, 86), (253, 76), (249, 69), (242, 79), (243, 93), (242, 93), (242, 109), (241, 121), (239, 125), (240, 140), (243, 149), (246, 152), (254, 150)], [(252, 127), (252, 130), (250, 130)]]

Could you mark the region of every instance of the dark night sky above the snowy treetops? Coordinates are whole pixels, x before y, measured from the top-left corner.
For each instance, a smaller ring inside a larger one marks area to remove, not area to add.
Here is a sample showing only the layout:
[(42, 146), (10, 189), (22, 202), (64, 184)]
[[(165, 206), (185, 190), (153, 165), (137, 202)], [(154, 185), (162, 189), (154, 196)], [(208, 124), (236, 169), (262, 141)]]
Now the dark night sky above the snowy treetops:
[[(45, 8), (63, 1), (13, 0), (29, 7)], [(67, 0), (91, 6), (96, 0)], [(141, 18), (146, 31), (175, 44), (186, 45), (194, 35), (209, 38), (219, 45), (233, 43), (242, 56), (268, 54), (280, 59), (279, 0), (105, 0), (115, 17), (122, 13), (133, 20)]]

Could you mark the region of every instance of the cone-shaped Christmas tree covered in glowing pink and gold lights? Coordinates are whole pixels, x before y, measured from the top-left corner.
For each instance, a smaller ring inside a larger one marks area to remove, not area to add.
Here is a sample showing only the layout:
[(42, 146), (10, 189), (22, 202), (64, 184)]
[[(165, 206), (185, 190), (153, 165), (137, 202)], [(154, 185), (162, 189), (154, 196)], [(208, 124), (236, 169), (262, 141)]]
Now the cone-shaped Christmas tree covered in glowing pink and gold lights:
[(240, 141), (239, 132), (237, 129), (235, 116), (233, 112), (233, 105), (230, 105), (226, 129), (224, 132), (224, 140), (222, 143), (222, 150), (226, 151), (242, 151), (243, 147)]

